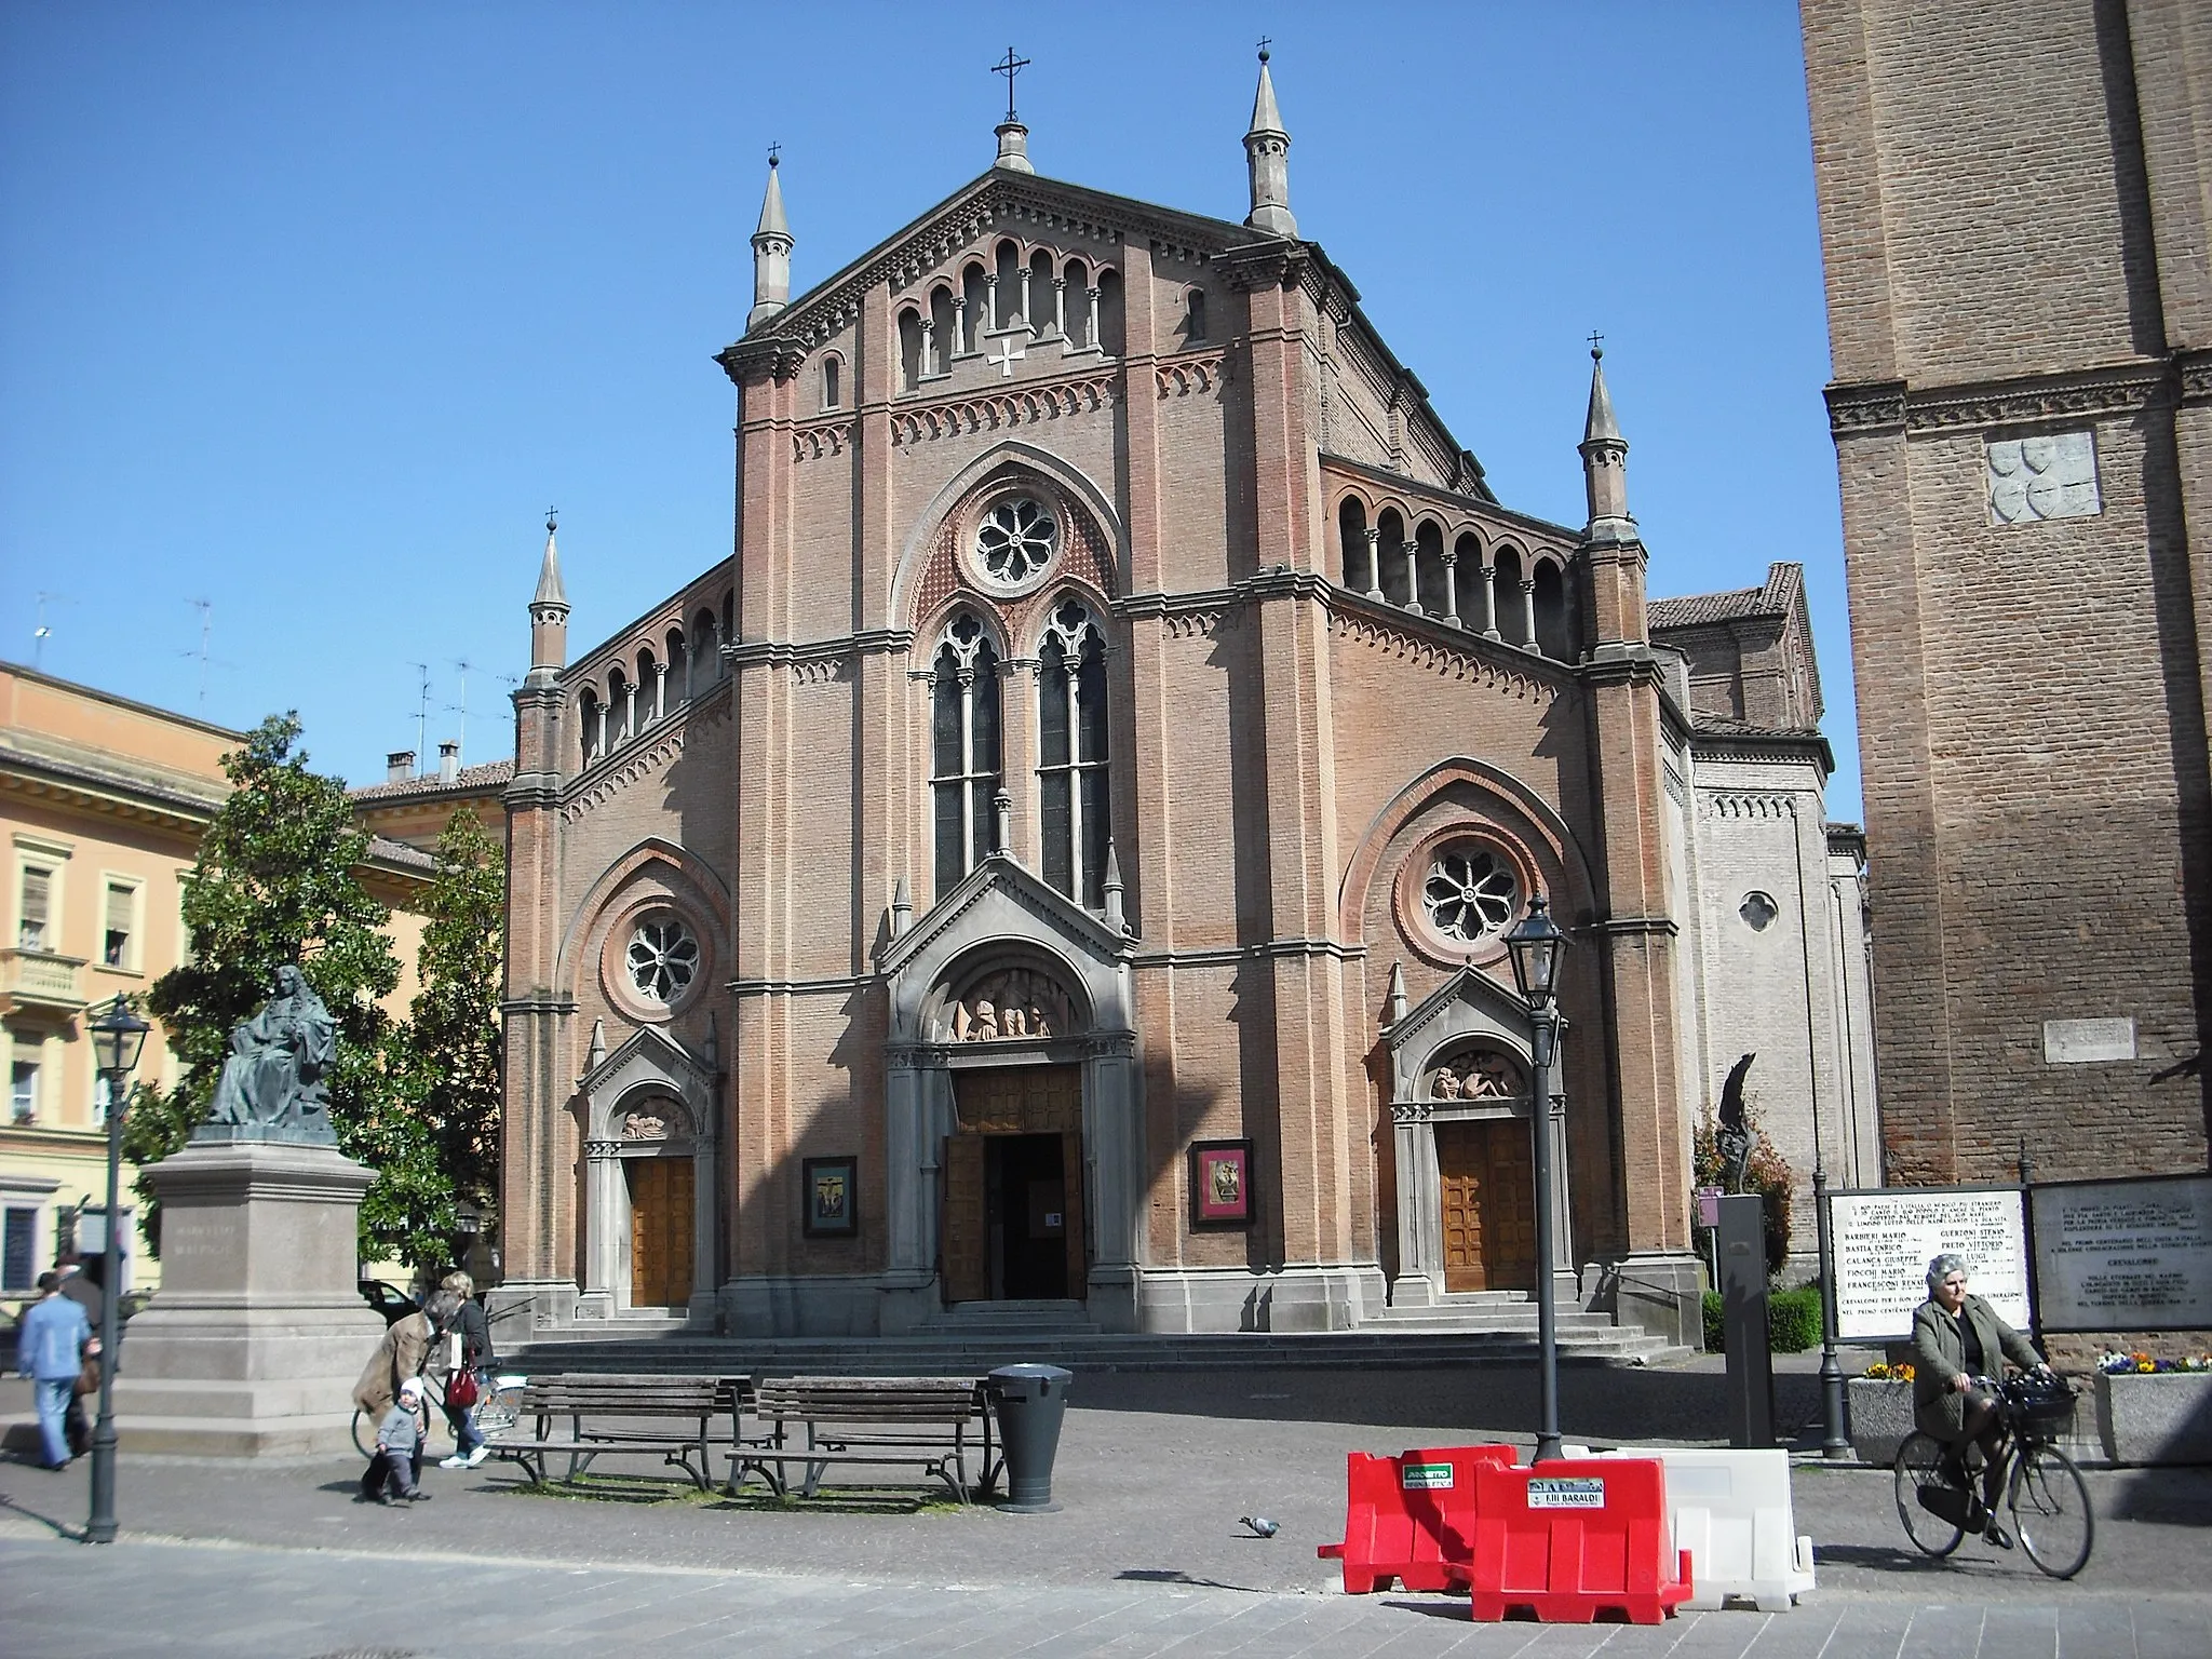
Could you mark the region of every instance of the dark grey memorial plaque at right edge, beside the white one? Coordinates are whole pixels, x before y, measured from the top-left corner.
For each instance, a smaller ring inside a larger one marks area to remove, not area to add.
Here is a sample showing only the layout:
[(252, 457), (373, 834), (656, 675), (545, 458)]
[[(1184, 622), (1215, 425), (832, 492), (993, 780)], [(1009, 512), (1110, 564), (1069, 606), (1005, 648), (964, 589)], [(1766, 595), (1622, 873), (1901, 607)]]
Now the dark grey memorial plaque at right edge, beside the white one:
[(2033, 1192), (2044, 1329), (2212, 1325), (2212, 1177), (2053, 1181)]

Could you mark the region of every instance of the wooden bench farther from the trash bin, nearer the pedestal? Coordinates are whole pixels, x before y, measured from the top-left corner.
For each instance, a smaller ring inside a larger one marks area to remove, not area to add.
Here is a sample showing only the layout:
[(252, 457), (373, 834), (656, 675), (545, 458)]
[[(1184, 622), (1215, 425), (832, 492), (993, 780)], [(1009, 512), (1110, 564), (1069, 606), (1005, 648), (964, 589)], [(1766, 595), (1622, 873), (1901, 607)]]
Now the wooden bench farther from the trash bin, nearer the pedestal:
[[(551, 1458), (566, 1455), (566, 1480), (575, 1480), (593, 1458), (657, 1451), (706, 1491), (714, 1478), (712, 1442), (739, 1442), (750, 1398), (745, 1376), (538, 1376), (522, 1391), (515, 1427), (489, 1444), (535, 1482), (549, 1480)], [(714, 1433), (719, 1418), (730, 1420), (728, 1436)]]

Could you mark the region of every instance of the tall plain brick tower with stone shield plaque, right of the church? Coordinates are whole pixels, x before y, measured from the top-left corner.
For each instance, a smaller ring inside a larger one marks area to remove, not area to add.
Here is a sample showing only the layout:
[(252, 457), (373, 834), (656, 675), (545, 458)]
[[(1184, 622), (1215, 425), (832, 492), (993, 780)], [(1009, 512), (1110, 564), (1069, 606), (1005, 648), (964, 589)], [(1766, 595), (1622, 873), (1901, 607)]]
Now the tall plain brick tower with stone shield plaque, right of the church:
[(2203, 1170), (2212, 9), (1803, 27), (1891, 1179)]

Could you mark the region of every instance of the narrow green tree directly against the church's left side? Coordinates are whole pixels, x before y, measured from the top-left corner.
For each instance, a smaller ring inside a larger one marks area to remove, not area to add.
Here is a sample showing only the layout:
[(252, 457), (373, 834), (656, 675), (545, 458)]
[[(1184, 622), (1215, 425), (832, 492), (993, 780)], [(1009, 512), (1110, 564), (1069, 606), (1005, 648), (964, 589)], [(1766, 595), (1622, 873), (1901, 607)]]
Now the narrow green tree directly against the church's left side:
[(438, 876), (422, 916), (422, 989), (409, 1011), (411, 1093), (456, 1194), (489, 1199), (500, 1164), (507, 854), (467, 807), (438, 836)]

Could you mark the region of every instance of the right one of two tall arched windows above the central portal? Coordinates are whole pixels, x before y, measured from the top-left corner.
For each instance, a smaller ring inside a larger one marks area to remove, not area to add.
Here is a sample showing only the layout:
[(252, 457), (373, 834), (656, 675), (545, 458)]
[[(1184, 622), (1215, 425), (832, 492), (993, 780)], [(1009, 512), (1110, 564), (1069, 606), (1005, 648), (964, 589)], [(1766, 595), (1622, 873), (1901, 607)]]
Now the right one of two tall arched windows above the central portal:
[(1106, 905), (1106, 635), (1082, 599), (1053, 608), (1037, 650), (1037, 821), (1044, 880)]

